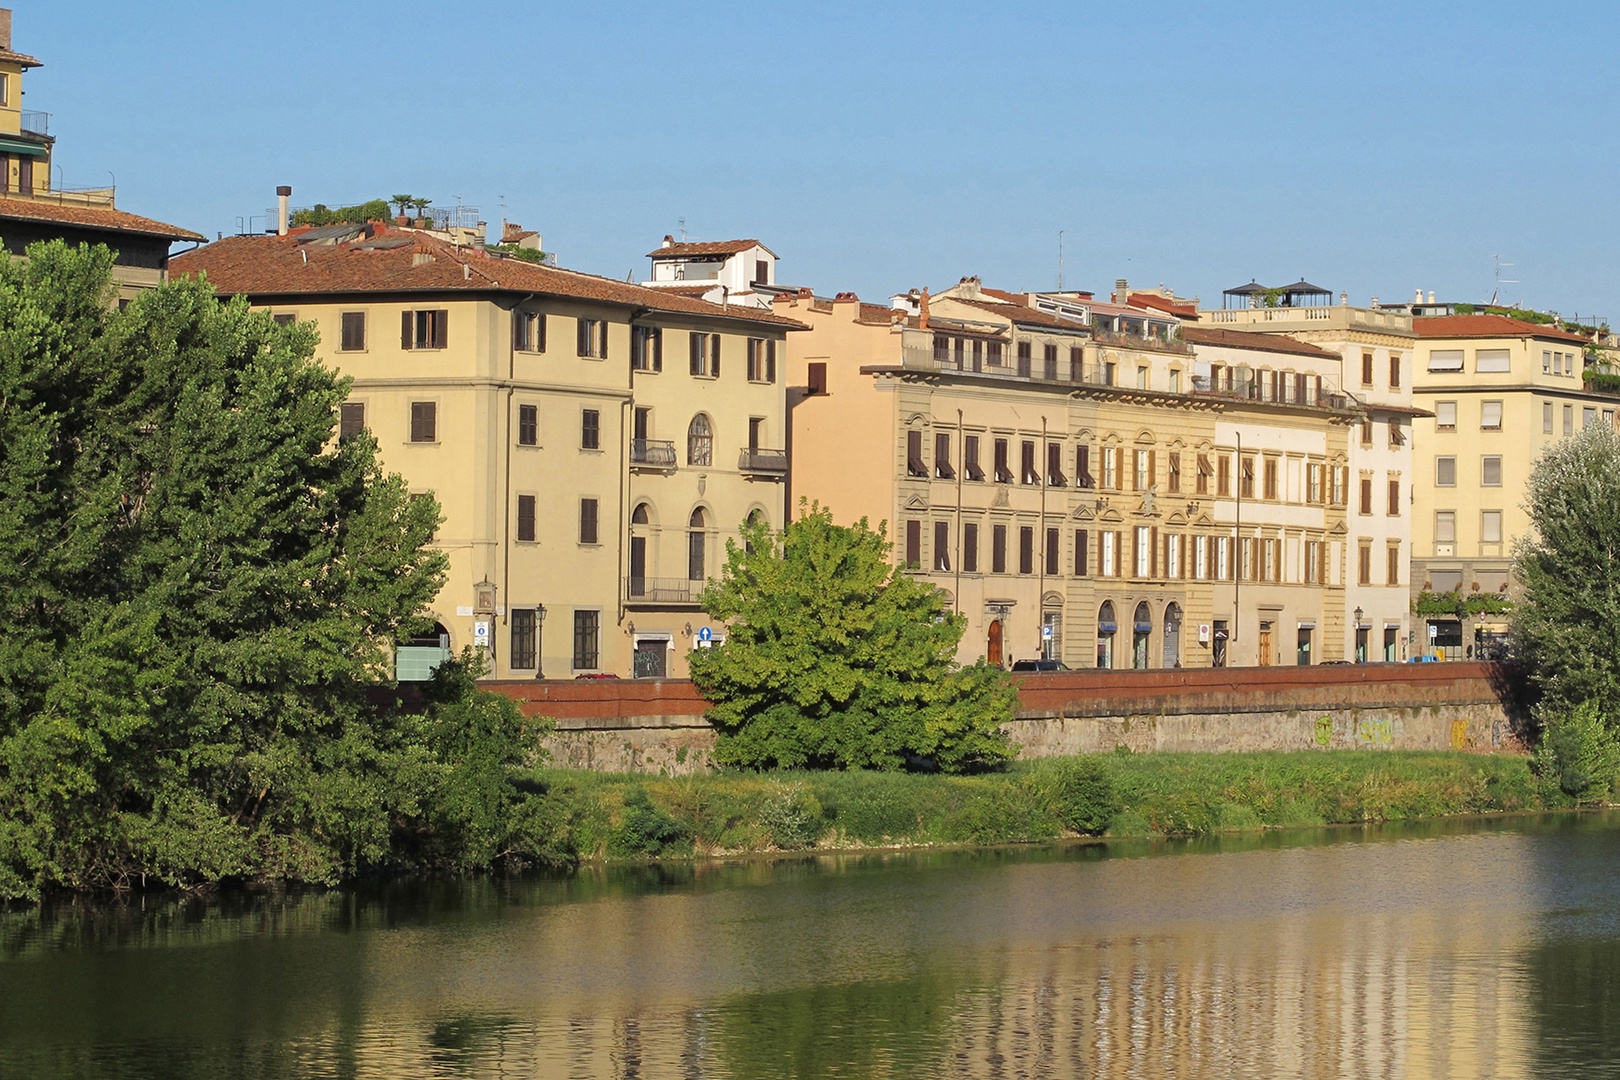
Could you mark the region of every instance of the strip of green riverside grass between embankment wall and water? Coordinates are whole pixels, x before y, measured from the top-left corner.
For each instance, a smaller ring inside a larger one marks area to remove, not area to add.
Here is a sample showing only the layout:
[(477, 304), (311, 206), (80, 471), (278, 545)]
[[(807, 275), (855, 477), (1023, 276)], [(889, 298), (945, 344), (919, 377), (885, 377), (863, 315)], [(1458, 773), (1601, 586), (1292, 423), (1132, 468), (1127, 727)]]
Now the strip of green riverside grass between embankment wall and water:
[(1029, 844), (1547, 808), (1529, 759), (1448, 751), (1115, 753), (982, 776), (538, 769), (580, 860)]

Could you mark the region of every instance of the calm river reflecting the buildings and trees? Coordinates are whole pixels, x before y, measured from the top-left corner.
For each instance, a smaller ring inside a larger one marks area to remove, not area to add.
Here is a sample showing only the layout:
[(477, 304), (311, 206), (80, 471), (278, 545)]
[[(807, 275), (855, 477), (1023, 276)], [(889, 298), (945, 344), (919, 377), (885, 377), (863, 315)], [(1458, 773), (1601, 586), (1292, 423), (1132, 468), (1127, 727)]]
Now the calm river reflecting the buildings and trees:
[(1612, 1077), (1620, 814), (0, 915), (0, 1077)]

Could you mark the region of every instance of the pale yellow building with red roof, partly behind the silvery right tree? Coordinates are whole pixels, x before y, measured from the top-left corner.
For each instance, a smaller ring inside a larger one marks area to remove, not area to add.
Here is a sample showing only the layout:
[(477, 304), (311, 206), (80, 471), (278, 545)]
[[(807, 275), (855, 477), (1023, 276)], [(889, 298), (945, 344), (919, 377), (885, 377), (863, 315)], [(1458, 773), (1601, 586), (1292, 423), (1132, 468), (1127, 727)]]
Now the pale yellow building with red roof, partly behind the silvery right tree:
[(1411, 597), (1429, 601), (1419, 643), (1440, 659), (1494, 656), (1513, 542), (1531, 528), (1531, 468), (1560, 439), (1614, 426), (1620, 398), (1583, 382), (1589, 342), (1578, 334), (1489, 314), (1413, 325), (1416, 397), (1432, 413), (1416, 432)]

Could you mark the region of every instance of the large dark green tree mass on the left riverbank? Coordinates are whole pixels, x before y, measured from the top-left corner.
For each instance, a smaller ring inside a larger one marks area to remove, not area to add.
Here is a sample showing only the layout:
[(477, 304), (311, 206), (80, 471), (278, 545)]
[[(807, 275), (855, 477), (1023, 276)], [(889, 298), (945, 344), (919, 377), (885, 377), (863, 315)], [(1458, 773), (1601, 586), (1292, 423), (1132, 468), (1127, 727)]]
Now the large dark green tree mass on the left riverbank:
[(0, 266), (0, 897), (509, 853), (510, 703), (379, 693), (436, 504), (334, 439), (309, 327), (194, 282), (118, 311), (110, 266)]

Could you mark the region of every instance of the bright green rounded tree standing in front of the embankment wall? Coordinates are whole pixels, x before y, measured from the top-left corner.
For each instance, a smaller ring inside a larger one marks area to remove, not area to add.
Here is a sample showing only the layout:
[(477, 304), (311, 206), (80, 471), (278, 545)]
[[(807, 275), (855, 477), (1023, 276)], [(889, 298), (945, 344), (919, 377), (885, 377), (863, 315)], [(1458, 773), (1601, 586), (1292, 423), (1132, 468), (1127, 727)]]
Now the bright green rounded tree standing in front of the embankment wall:
[(1017, 696), (1000, 669), (956, 664), (966, 620), (938, 588), (894, 568), (862, 520), (821, 507), (779, 536), (745, 525), (703, 607), (726, 641), (692, 654), (714, 703), (714, 758), (747, 767), (901, 769), (915, 759), (959, 772), (1016, 750), (1001, 730)]

